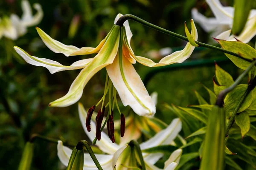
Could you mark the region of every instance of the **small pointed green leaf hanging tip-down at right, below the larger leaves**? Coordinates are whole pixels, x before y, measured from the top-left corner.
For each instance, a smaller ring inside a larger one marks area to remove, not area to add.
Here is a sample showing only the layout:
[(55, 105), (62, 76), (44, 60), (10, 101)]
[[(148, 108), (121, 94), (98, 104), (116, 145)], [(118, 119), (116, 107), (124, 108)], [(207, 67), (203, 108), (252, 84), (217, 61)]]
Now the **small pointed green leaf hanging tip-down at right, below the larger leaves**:
[(242, 138), (244, 135), (250, 130), (250, 117), (248, 113), (242, 112), (235, 117), (236, 125), (238, 125), (241, 129)]

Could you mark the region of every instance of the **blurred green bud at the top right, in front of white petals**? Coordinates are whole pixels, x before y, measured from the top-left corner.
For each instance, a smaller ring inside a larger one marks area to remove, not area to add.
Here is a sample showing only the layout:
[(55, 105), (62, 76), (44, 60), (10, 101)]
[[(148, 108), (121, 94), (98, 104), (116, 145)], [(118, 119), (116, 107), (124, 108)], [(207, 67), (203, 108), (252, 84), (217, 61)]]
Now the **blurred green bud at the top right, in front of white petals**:
[(243, 31), (253, 5), (253, 0), (235, 0), (235, 12), (232, 33), (239, 35)]

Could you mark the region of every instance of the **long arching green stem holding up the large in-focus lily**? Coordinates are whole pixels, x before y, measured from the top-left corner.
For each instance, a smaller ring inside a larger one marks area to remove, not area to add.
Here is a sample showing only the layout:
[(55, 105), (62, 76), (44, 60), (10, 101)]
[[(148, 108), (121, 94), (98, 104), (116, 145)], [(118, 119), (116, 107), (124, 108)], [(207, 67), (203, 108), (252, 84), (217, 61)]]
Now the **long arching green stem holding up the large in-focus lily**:
[[(182, 36), (182, 35), (180, 35), (180, 34), (177, 34), (177, 33), (175, 33), (175, 32), (172, 32), (172, 31), (168, 31), (168, 30), (166, 30), (166, 29), (164, 29), (164, 28), (161, 28), (161, 27), (159, 27), (159, 26), (156, 26), (156, 25), (154, 25), (154, 24), (148, 23), (147, 21), (142, 20), (141, 18), (136, 17), (136, 16), (134, 16), (134, 15), (132, 15), (132, 14), (125, 14), (125, 15), (123, 15), (122, 17), (120, 17), (119, 20), (116, 22), (116, 25), (123, 26), (123, 24), (124, 24), (124, 22), (125, 22), (126, 20), (134, 20), (134, 21), (136, 21), (137, 23), (143, 24), (144, 26), (147, 26), (147, 27), (149, 27), (149, 28), (153, 28), (153, 29), (155, 29), (155, 30), (157, 30), (157, 31), (163, 32), (163, 33), (165, 33), (165, 34), (168, 34), (168, 35), (171, 35), (171, 36), (173, 36), (173, 37), (176, 37), (176, 38), (179, 38), (179, 39), (181, 39), (181, 40), (185, 40), (185, 41), (189, 42), (189, 40), (188, 40), (187, 37), (184, 37), (184, 36)], [(251, 60), (251, 59), (246, 59), (246, 58), (244, 58), (244, 57), (241, 57), (239, 54), (234, 53), (234, 52), (232, 52), (232, 51), (225, 50), (225, 49), (223, 49), (223, 48), (219, 48), (219, 47), (216, 47), (216, 46), (213, 46), (213, 45), (205, 44), (205, 43), (199, 42), (199, 41), (195, 41), (195, 42), (196, 42), (198, 45), (200, 45), (201, 47), (206, 47), (206, 48), (210, 48), (210, 49), (215, 49), (215, 50), (224, 52), (224, 53), (226, 53), (226, 54), (230, 54), (230, 55), (236, 56), (236, 57), (238, 57), (238, 58), (244, 59), (244, 60), (246, 60), (246, 61), (248, 61), (248, 62), (252, 62), (252, 61), (253, 61), (253, 60)]]

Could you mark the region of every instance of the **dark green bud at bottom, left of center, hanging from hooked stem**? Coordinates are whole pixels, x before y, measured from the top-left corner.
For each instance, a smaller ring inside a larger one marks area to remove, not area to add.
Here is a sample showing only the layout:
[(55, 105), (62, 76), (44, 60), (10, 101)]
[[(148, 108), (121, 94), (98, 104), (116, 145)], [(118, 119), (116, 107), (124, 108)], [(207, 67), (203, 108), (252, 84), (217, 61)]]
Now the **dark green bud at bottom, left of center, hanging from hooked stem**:
[(84, 167), (84, 150), (83, 144), (79, 142), (76, 147), (74, 147), (70, 160), (67, 165), (66, 170), (82, 170)]

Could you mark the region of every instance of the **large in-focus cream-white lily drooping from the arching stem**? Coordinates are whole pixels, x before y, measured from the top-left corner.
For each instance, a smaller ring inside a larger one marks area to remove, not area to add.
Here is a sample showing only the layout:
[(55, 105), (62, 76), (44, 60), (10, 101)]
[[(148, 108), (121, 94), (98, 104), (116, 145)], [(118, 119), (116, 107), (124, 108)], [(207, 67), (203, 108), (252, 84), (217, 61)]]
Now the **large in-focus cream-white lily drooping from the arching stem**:
[[(118, 14), (114, 23), (121, 16), (122, 14)], [(193, 21), (191, 23), (192, 36), (197, 40), (195, 24)], [(77, 48), (73, 45), (64, 45), (57, 40), (53, 40), (40, 28), (37, 28), (37, 31), (47, 47), (55, 53), (62, 53), (65, 56), (98, 53), (93, 59), (78, 61), (76, 64), (64, 66), (53, 60), (33, 57), (22, 49), (15, 47), (17, 53), (28, 63), (46, 67), (51, 73), (83, 68), (72, 83), (68, 93), (49, 104), (49, 106), (53, 107), (66, 107), (76, 103), (81, 98), (83, 89), (90, 78), (102, 68), (106, 68), (109, 76), (108, 82), (113, 83), (114, 90), (116, 89), (118, 92), (124, 106), (129, 105), (139, 115), (154, 115), (156, 110), (154, 101), (149, 96), (132, 64), (138, 61), (143, 65), (156, 67), (183, 62), (195, 48), (188, 42), (182, 51), (176, 51), (164, 57), (159, 63), (154, 63), (151, 59), (145, 57), (135, 56), (130, 46), (132, 33), (128, 21), (125, 21), (124, 26), (114, 25), (107, 37), (96, 48)]]

